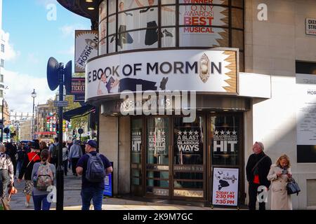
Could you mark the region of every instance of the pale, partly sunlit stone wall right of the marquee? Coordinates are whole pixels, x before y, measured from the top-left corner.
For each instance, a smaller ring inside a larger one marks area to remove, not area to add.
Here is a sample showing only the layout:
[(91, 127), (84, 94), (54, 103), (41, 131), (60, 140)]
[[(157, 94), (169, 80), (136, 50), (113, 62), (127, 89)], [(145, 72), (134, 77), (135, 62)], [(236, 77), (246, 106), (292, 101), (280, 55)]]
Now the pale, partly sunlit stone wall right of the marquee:
[[(258, 21), (259, 3), (267, 4), (268, 21)], [(246, 0), (246, 72), (272, 76), (272, 98), (253, 102), (251, 141), (263, 141), (272, 162), (282, 153), (291, 158), (302, 188), (298, 197), (292, 196), (294, 209), (306, 209), (306, 179), (316, 179), (316, 164), (296, 162), (295, 93), (296, 60), (316, 62), (316, 36), (305, 34), (305, 18), (316, 18), (315, 8), (314, 0)], [(251, 135), (245, 136), (249, 142)], [(247, 160), (251, 146), (246, 147)]]

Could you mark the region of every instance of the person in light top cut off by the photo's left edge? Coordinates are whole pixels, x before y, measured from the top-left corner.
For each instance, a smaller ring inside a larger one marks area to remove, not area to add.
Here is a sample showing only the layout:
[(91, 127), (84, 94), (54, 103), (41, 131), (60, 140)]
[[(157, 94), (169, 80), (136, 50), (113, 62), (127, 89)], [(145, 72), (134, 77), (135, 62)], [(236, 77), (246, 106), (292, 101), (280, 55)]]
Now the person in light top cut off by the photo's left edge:
[(0, 198), (6, 197), (8, 186), (13, 186), (14, 170), (10, 156), (5, 153), (4, 144), (0, 144)]

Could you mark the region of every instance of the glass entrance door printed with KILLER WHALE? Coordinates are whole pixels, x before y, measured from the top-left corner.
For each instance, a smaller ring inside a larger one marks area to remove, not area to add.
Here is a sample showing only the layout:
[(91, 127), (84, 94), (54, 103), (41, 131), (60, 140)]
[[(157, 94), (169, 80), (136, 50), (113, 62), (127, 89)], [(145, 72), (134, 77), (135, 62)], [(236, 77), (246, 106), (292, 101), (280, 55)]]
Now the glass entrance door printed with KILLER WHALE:
[(147, 118), (146, 195), (169, 197), (170, 118)]

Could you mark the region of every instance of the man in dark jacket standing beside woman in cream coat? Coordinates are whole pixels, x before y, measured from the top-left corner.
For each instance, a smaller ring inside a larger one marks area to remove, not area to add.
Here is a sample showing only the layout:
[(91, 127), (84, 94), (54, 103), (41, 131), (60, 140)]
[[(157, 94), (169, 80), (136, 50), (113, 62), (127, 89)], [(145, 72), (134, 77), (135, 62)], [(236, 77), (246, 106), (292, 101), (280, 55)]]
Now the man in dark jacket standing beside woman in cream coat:
[[(263, 153), (264, 146), (256, 141), (252, 150), (254, 154), (249, 156), (246, 165), (246, 177), (249, 183), (249, 209), (256, 210), (258, 187), (265, 186), (269, 189), (270, 181), (267, 176), (271, 167), (271, 159)], [(265, 210), (265, 202), (259, 202), (259, 210)]]

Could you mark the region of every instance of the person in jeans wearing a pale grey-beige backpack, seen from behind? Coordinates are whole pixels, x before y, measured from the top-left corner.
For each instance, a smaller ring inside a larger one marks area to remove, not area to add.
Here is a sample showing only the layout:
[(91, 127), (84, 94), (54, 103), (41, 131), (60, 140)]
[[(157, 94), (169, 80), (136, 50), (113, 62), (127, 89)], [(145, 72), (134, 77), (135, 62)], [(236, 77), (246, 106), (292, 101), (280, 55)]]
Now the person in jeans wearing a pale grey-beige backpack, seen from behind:
[(47, 190), (54, 184), (56, 169), (48, 162), (48, 158), (49, 151), (44, 149), (41, 151), (41, 162), (35, 163), (32, 169), (34, 210), (51, 209), (51, 200), (48, 200)]

